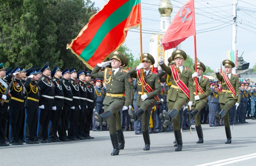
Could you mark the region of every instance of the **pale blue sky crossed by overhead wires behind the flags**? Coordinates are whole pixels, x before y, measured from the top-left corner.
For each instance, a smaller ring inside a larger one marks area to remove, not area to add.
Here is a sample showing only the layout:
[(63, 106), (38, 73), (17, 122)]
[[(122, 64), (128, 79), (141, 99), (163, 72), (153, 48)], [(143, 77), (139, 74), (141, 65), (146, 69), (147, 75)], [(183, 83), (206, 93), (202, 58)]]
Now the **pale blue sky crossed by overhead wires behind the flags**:
[[(92, 0), (93, 1), (93, 0)], [(152, 33), (160, 31), (158, 5), (161, 0), (141, 0), (143, 53), (149, 53)], [(187, 0), (170, 0), (173, 4), (171, 19)], [(94, 0), (95, 7), (103, 8), (107, 0)], [(231, 50), (233, 0), (195, 0), (197, 57), (212, 69), (219, 68)], [(238, 0), (237, 11), (237, 50), (243, 52), (244, 60), (250, 62), (249, 68), (256, 64), (256, 0)], [(135, 32), (136, 31), (136, 32)], [(125, 43), (131, 53), (138, 58), (140, 54), (140, 33), (138, 29), (129, 30)], [(194, 38), (182, 42), (182, 50), (194, 59)]]

